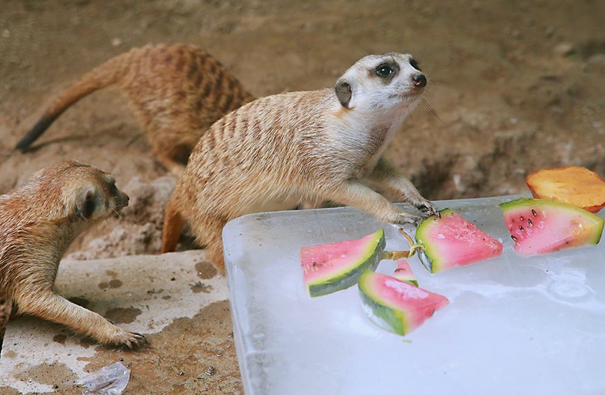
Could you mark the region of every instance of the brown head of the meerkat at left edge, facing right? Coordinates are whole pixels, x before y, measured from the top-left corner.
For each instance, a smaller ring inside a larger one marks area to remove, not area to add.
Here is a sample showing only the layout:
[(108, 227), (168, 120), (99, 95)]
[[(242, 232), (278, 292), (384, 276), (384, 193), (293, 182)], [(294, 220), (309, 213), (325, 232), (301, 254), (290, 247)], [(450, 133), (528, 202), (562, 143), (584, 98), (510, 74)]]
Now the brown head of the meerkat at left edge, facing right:
[(49, 203), (55, 202), (59, 217), (96, 222), (128, 206), (128, 195), (116, 187), (110, 174), (75, 161), (42, 169), (27, 184), (36, 187)]

